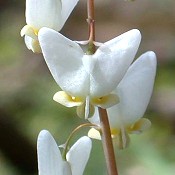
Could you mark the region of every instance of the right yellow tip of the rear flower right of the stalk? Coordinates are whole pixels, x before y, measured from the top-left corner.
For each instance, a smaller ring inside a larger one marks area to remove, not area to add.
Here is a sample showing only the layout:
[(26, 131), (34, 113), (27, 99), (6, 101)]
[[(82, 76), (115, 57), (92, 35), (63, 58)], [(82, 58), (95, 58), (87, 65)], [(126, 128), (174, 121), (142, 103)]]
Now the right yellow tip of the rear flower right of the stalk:
[(150, 127), (151, 127), (151, 121), (146, 118), (141, 118), (140, 120), (135, 122), (133, 125), (128, 126), (127, 130), (128, 130), (128, 133), (131, 133), (131, 134), (133, 133), (140, 134)]

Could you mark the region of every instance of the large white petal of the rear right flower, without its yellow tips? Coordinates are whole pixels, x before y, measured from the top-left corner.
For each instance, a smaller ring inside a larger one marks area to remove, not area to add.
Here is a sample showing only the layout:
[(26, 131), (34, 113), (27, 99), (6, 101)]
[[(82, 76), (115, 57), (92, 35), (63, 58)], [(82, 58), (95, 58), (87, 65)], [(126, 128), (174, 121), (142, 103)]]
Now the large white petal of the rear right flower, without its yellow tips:
[(112, 125), (132, 124), (144, 115), (149, 103), (156, 73), (156, 55), (146, 52), (129, 68), (116, 89), (120, 103), (108, 109)]

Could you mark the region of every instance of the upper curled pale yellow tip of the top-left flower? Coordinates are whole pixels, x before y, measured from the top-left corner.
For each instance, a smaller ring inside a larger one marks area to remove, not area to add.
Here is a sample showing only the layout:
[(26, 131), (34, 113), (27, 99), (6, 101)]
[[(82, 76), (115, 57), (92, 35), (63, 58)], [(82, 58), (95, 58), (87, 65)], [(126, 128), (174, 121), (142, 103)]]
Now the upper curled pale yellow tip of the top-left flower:
[(33, 38), (34, 40), (38, 40), (38, 29), (35, 29), (29, 25), (25, 25), (20, 32), (21, 37), (23, 37), (24, 35), (27, 35), (31, 38)]

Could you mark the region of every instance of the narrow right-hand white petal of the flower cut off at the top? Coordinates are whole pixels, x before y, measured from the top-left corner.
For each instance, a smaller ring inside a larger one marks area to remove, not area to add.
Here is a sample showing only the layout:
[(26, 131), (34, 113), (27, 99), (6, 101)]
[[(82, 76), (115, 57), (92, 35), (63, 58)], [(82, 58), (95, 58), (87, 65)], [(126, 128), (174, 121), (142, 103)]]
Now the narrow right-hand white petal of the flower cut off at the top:
[(62, 26), (64, 25), (65, 21), (69, 17), (70, 13), (76, 6), (79, 0), (62, 0), (62, 11), (61, 11), (61, 16), (62, 16)]

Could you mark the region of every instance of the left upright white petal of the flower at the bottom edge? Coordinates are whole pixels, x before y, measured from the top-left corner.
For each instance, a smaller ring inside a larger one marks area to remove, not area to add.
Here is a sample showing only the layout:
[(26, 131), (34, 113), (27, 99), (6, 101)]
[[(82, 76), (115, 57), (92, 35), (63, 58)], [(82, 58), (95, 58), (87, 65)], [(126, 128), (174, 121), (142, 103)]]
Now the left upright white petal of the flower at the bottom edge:
[(39, 175), (63, 175), (62, 157), (52, 135), (42, 130), (37, 141)]

